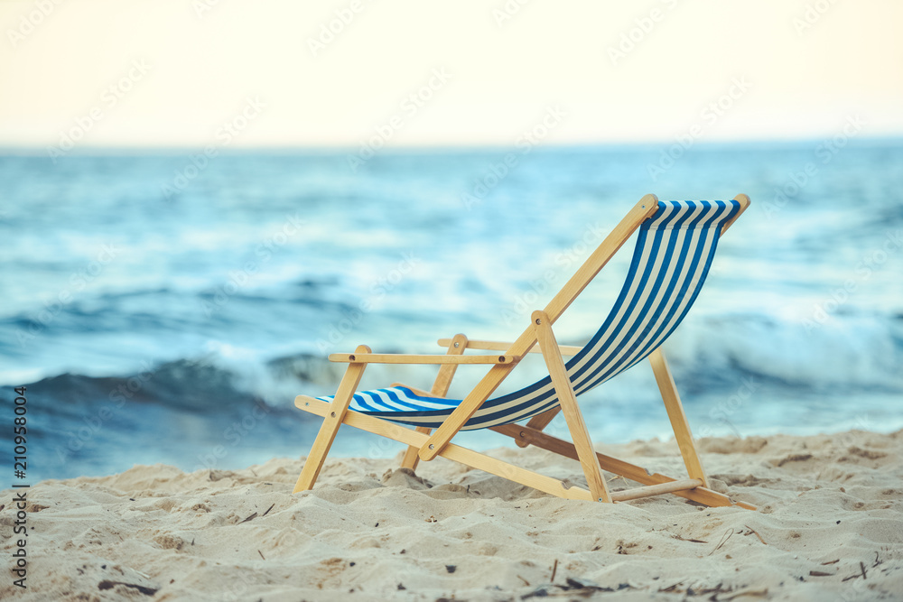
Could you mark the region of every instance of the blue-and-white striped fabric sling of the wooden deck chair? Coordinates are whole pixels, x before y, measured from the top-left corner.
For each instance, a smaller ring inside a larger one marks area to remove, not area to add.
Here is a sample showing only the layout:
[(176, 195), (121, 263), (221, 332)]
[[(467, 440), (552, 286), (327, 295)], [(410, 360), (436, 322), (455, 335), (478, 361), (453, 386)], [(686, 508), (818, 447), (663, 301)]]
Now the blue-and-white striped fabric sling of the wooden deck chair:
[[(740, 211), (736, 200), (658, 201), (639, 228), (628, 276), (602, 327), (565, 365), (582, 394), (645, 359), (684, 320), (712, 264), (721, 227)], [(319, 397), (331, 402), (332, 396)], [(396, 386), (358, 392), (349, 409), (389, 421), (437, 428), (461, 403)], [(462, 431), (522, 421), (558, 404), (552, 379), (486, 403)]]

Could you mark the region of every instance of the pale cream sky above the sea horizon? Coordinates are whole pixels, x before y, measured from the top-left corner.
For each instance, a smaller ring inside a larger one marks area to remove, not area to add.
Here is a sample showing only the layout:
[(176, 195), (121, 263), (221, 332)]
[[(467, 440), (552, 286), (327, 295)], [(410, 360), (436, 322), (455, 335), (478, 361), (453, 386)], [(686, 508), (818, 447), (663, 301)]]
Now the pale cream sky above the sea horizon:
[(901, 135), (901, 26), (899, 0), (0, 0), (0, 146)]

